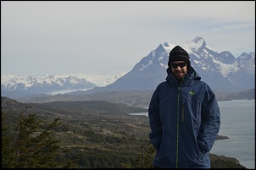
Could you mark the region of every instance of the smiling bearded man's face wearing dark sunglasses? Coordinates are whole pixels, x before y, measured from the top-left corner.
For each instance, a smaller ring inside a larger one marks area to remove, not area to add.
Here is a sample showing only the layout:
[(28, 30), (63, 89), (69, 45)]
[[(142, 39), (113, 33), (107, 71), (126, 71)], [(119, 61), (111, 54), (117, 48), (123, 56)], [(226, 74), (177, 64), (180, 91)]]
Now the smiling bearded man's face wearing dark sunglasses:
[(182, 80), (187, 73), (186, 62), (184, 61), (175, 61), (170, 63), (170, 69), (176, 80)]

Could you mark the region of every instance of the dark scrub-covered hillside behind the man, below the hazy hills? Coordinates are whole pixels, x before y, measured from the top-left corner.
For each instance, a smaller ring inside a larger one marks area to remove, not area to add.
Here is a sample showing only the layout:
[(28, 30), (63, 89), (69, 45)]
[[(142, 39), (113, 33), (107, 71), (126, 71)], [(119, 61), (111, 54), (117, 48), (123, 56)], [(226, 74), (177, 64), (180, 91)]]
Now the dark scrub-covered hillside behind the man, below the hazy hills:
[[(146, 112), (141, 107), (109, 101), (54, 101), (47, 103), (21, 103), (2, 97), (2, 116), (5, 115), (10, 130), (14, 129), (17, 114), (26, 106), (25, 113), (36, 113), (48, 122), (61, 118), (56, 138), (63, 147), (72, 150), (70, 159), (79, 158), (75, 167), (122, 168), (136, 164), (142, 151), (152, 151), (148, 140), (148, 118), (131, 116), (131, 112)], [(148, 152), (147, 152), (148, 153)], [(237, 159), (211, 154), (214, 168), (244, 168)], [(59, 158), (65, 160), (64, 158)], [(153, 159), (153, 153), (148, 157)]]

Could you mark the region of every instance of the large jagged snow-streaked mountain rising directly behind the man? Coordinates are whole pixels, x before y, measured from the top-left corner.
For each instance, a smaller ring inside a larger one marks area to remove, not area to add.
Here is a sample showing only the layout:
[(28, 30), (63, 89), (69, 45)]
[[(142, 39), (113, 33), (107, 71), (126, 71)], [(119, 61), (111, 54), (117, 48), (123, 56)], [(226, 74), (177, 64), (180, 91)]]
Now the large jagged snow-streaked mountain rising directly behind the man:
[[(178, 44), (164, 42), (146, 57), (136, 63), (134, 68), (103, 88), (86, 90), (94, 93), (103, 90), (154, 90), (164, 81), (168, 68), (170, 50)], [(179, 44), (180, 45), (180, 44)], [(245, 53), (235, 58), (231, 52), (214, 52), (202, 37), (195, 37), (183, 47), (191, 58), (192, 67), (198, 71), (201, 80), (214, 90), (232, 91), (255, 88), (255, 52)]]

